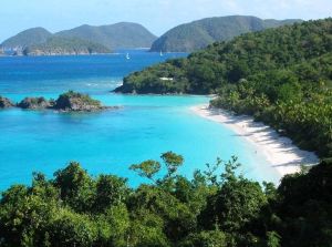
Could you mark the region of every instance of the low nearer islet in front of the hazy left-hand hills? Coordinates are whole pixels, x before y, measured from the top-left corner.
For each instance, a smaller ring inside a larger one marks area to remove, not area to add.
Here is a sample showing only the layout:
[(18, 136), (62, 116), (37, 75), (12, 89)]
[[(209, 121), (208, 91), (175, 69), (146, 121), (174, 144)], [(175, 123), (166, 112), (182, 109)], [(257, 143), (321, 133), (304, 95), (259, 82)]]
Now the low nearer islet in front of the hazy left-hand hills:
[(52, 37), (46, 42), (27, 47), (24, 55), (71, 55), (110, 53), (111, 50), (102, 44), (76, 38)]

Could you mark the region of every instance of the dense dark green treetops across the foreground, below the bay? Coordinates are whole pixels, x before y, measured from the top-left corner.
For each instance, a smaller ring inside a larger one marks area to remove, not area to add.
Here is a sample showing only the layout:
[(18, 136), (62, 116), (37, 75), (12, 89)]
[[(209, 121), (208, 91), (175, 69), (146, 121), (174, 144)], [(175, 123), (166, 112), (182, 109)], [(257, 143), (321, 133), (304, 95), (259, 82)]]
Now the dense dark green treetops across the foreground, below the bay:
[(2, 194), (0, 246), (332, 246), (331, 159), (283, 177), (278, 188), (237, 175), (236, 157), (193, 179), (177, 174), (183, 162), (167, 152), (132, 165), (149, 181), (136, 188), (114, 175), (93, 177), (75, 162), (52, 179), (35, 173), (31, 186)]

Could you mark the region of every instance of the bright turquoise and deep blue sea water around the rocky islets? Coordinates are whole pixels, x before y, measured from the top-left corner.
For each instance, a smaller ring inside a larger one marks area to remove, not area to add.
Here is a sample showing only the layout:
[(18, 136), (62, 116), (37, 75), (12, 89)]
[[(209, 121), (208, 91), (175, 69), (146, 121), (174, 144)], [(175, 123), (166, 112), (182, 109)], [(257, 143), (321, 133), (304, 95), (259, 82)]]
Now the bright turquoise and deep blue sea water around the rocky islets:
[(195, 169), (217, 157), (237, 155), (240, 172), (258, 181), (278, 182), (255, 147), (229, 128), (197, 116), (190, 106), (208, 103), (207, 96), (121, 95), (110, 91), (124, 75), (184, 53), (126, 51), (92, 56), (0, 58), (0, 95), (13, 101), (25, 96), (55, 99), (75, 90), (89, 93), (105, 105), (121, 110), (98, 113), (53, 111), (0, 111), (0, 191), (12, 184), (30, 184), (33, 172), (49, 177), (70, 161), (77, 161), (91, 174), (116, 174), (132, 186), (143, 182), (128, 169), (134, 163), (159, 159), (174, 151), (185, 157), (180, 173)]

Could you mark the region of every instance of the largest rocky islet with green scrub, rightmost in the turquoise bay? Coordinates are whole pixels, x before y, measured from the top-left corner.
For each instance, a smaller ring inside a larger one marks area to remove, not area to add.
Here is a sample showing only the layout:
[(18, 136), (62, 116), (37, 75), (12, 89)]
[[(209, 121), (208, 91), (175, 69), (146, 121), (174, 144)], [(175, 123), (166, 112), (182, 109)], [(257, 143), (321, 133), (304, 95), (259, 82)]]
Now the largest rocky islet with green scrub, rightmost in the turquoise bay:
[(61, 94), (53, 109), (65, 112), (93, 112), (108, 109), (100, 101), (91, 99), (87, 94), (69, 91)]

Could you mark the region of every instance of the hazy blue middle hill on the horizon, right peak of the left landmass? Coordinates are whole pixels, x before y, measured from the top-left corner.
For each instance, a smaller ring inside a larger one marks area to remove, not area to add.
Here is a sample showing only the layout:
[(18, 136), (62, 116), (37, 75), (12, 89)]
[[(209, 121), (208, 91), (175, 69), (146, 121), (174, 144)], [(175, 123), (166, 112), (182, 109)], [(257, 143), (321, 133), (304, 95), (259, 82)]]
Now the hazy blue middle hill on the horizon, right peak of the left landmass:
[(79, 38), (103, 44), (108, 49), (151, 48), (156, 37), (137, 23), (120, 22), (110, 25), (81, 25), (55, 33), (58, 37)]

